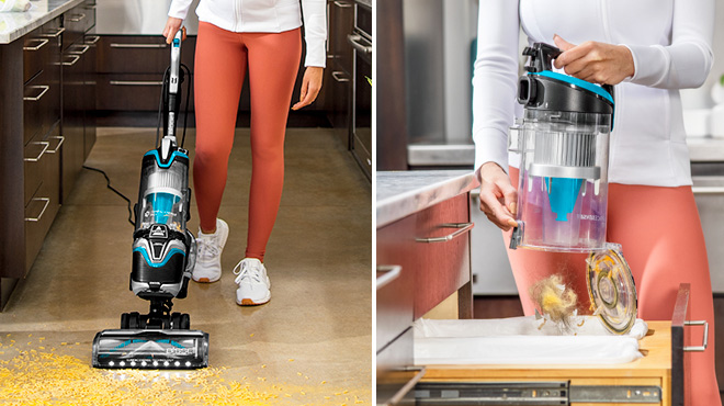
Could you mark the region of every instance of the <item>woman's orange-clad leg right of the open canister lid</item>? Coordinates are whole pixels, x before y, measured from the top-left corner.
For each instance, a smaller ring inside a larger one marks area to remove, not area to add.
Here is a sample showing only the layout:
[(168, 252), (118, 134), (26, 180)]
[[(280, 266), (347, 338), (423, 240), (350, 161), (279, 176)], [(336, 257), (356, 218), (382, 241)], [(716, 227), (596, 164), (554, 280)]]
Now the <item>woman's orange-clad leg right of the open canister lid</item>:
[[(691, 319), (709, 322), (709, 347), (687, 352), (686, 405), (721, 405), (714, 371), (714, 308), (699, 212), (690, 187), (609, 185), (608, 239), (621, 244), (638, 294), (638, 317), (670, 320), (679, 283), (691, 284)], [(699, 330), (693, 335), (699, 337)], [(699, 345), (689, 340), (687, 346)], [(697, 341), (699, 338), (697, 338)]]

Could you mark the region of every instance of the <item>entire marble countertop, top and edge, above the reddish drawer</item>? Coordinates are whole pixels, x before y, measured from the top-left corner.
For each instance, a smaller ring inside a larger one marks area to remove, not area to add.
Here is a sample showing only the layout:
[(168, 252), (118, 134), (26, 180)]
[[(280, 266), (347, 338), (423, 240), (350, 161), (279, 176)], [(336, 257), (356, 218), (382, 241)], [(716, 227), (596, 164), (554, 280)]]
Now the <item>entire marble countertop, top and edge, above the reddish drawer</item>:
[(470, 170), (380, 171), (377, 228), (478, 187)]

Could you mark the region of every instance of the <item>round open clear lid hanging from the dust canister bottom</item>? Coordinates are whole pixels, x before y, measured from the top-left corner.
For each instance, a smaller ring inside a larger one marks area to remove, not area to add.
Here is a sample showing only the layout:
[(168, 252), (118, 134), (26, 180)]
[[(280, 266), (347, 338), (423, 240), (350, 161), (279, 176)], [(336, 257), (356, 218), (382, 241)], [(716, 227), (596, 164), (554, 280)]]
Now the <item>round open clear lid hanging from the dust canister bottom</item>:
[(593, 315), (611, 332), (623, 335), (636, 320), (636, 286), (620, 246), (607, 248), (587, 259), (586, 282)]

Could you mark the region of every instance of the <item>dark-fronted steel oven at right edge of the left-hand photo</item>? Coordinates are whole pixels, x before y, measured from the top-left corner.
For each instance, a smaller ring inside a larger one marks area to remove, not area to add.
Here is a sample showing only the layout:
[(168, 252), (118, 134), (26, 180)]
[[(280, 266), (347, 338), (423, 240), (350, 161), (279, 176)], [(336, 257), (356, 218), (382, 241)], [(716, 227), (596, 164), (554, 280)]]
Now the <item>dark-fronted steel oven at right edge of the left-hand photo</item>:
[(347, 36), (354, 48), (352, 72), (352, 135), (350, 149), (372, 177), (372, 2), (354, 3), (354, 29)]

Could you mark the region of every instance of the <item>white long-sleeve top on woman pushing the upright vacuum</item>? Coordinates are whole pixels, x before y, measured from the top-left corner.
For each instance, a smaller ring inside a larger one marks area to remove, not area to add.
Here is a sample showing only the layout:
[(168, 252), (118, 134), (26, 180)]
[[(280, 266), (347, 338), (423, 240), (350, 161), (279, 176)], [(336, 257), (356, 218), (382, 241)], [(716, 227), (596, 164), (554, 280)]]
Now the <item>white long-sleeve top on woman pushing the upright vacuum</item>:
[[(299, 3), (301, 1), (301, 3)], [(169, 16), (185, 20), (192, 0), (173, 0)], [(325, 67), (327, 3), (325, 0), (201, 0), (199, 21), (233, 32), (281, 33), (302, 26), (307, 54), (304, 66)]]

